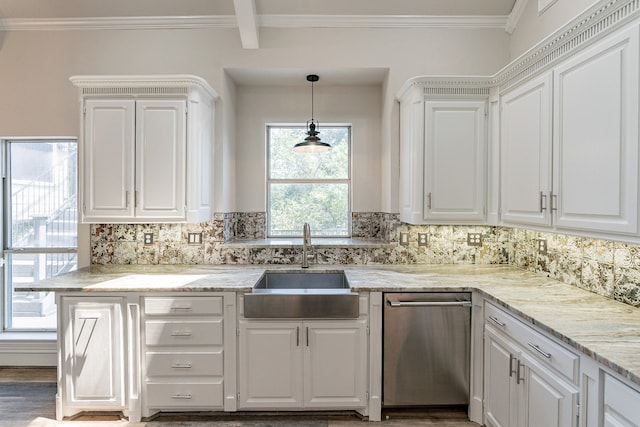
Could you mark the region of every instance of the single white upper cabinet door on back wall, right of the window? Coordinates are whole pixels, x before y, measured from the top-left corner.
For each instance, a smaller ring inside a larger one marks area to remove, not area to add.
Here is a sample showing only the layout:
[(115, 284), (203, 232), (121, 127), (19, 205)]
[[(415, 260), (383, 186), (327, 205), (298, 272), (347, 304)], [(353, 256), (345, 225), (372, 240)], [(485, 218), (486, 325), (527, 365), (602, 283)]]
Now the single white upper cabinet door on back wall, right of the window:
[(484, 219), (484, 101), (425, 103), (424, 219)]

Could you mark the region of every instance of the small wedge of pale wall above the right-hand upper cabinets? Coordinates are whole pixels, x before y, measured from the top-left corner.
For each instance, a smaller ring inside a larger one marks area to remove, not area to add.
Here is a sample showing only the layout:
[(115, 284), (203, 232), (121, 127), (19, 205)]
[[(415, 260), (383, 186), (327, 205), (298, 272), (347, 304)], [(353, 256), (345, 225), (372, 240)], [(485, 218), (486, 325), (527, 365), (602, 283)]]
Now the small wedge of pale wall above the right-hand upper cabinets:
[(597, 2), (598, 0), (556, 0), (539, 14), (538, 0), (529, 0), (511, 35), (511, 59), (519, 57)]

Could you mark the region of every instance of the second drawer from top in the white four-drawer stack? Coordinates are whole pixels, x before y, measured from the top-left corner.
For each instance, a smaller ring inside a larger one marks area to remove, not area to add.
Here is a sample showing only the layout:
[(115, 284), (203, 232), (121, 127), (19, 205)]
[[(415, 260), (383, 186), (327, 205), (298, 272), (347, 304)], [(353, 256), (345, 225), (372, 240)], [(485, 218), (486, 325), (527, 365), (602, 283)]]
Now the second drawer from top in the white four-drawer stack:
[(200, 321), (147, 320), (147, 345), (222, 345), (222, 319)]

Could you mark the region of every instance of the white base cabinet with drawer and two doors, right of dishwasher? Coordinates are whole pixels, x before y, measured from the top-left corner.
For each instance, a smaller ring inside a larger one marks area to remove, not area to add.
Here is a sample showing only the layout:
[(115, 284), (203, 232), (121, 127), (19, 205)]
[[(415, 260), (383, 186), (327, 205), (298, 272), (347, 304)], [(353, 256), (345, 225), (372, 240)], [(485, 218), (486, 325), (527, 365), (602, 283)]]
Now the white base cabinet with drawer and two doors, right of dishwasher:
[(494, 306), (485, 316), (485, 424), (575, 426), (578, 356)]

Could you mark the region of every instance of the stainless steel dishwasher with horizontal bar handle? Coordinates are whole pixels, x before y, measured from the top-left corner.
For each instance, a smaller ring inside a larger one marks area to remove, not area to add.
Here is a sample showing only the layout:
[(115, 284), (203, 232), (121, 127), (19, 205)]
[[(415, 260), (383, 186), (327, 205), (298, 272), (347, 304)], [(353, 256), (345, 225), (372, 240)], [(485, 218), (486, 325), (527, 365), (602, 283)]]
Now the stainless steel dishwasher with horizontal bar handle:
[(469, 404), (471, 294), (386, 293), (385, 407)]

